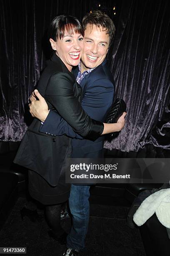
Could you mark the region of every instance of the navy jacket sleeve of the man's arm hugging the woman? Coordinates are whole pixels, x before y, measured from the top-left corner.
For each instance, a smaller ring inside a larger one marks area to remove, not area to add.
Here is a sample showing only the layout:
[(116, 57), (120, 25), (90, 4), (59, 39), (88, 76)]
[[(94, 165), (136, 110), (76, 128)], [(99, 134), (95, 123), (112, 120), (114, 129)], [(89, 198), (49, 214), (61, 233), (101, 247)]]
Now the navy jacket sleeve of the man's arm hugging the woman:
[[(96, 120), (103, 120), (107, 110), (112, 104), (114, 86), (108, 79), (97, 79), (89, 84), (85, 95), (82, 97), (82, 107)], [(50, 111), (44, 125), (40, 126), (40, 132), (52, 135), (66, 134), (71, 138), (83, 139), (75, 133), (72, 127), (55, 111)]]

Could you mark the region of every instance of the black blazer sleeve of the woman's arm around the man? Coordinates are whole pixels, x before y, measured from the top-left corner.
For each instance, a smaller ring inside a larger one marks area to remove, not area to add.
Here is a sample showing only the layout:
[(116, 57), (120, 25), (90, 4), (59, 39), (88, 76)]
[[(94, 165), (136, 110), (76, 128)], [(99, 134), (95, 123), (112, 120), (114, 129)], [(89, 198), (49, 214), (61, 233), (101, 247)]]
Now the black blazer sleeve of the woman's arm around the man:
[(76, 133), (93, 140), (102, 133), (103, 123), (91, 119), (74, 96), (73, 81), (69, 74), (52, 74), (47, 84), (45, 98)]

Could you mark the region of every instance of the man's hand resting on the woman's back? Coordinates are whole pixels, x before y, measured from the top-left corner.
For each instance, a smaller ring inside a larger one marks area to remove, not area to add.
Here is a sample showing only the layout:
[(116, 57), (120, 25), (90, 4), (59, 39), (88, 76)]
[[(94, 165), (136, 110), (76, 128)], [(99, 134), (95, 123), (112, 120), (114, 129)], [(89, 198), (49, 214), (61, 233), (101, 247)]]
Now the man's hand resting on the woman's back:
[[(36, 100), (35, 96), (38, 100)], [(34, 92), (32, 92), (30, 101), (31, 103), (29, 104), (29, 107), (31, 115), (44, 122), (50, 110), (48, 110), (48, 105), (38, 90), (34, 90)]]

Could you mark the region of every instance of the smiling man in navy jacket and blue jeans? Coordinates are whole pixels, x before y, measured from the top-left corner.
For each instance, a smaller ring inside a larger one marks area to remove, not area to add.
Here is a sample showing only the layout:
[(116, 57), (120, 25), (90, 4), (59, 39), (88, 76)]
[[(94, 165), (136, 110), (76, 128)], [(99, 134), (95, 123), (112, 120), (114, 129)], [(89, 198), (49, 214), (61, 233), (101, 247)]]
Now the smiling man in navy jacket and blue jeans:
[[(85, 15), (82, 25), (85, 29), (84, 51), (74, 74), (82, 87), (83, 109), (91, 118), (105, 121), (114, 95), (114, 80), (106, 66), (105, 57), (115, 35), (115, 26), (112, 20), (101, 11)], [(40, 120), (45, 120), (40, 128), (41, 132), (71, 136), (73, 158), (103, 157), (103, 137), (95, 141), (82, 139), (57, 113), (48, 112), (45, 100), (37, 91), (35, 94), (40, 100), (32, 101), (30, 112)], [(124, 117), (125, 115), (121, 117), (122, 122), (125, 121)], [(67, 249), (64, 256), (78, 255), (80, 249), (85, 247), (89, 221), (89, 188), (89, 185), (72, 184), (69, 198), (72, 228), (67, 236)]]

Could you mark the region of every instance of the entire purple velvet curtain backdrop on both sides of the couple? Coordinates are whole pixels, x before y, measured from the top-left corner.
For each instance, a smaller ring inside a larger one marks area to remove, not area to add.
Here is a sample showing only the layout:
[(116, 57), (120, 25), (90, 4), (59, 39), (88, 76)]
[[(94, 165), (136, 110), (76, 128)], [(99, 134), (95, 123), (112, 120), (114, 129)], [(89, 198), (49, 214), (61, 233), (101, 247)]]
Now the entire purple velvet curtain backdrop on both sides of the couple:
[[(108, 59), (115, 97), (128, 106), (124, 130), (105, 148), (138, 151), (147, 143), (170, 148), (169, 1), (109, 0), (100, 5), (115, 18)], [(82, 19), (97, 6), (96, 0), (0, 0), (1, 141), (20, 141), (30, 122), (26, 103), (49, 57), (50, 20), (60, 13)]]

